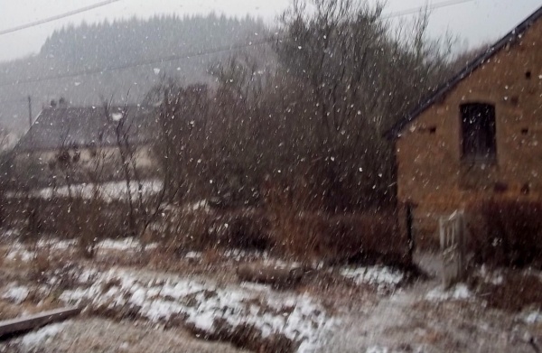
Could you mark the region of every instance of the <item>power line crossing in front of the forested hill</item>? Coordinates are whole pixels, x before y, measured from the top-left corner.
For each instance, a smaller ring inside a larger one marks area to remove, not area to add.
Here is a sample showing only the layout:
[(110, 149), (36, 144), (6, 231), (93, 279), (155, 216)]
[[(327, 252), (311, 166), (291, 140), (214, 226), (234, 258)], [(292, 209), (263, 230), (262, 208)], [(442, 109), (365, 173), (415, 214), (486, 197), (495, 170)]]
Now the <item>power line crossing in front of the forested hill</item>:
[(132, 63), (124, 64), (124, 65), (109, 67), (109, 68), (106, 68), (106, 69), (79, 70), (79, 71), (70, 72), (70, 73), (67, 73), (67, 74), (64, 74), (64, 75), (54, 75), (54, 76), (50, 75), (50, 76), (43, 76), (41, 78), (34, 78), (34, 79), (18, 79), (18, 80), (14, 80), (14, 81), (11, 81), (11, 82), (0, 84), (0, 87), (19, 85), (19, 84), (23, 84), (23, 83), (42, 82), (42, 81), (48, 81), (48, 80), (51, 80), (51, 79), (69, 79), (69, 78), (74, 78), (74, 77), (78, 77), (78, 76), (96, 75), (96, 74), (101, 74), (101, 73), (104, 73), (104, 72), (126, 70), (126, 69), (131, 69), (131, 68), (137, 68), (137, 67), (140, 67), (140, 66), (147, 66), (147, 65), (152, 65), (152, 64), (156, 64), (156, 63), (163, 63), (163, 62), (169, 62), (169, 61), (174, 61), (174, 60), (184, 60), (184, 59), (198, 58), (198, 57), (201, 57), (201, 56), (210, 55), (210, 54), (218, 54), (218, 53), (221, 53), (221, 52), (237, 51), (239, 49), (259, 46), (259, 45), (263, 45), (263, 44), (266, 44), (266, 43), (269, 43), (269, 42), (276, 42), (276, 41), (277, 41), (276, 38), (270, 38), (270, 39), (268, 38), (268, 39), (264, 39), (264, 40), (257, 41), (257, 42), (248, 42), (246, 44), (238, 44), (238, 45), (230, 45), (230, 46), (218, 47), (216, 49), (209, 50), (209, 51), (195, 51), (195, 52), (186, 53), (186, 54), (183, 54), (183, 55), (171, 55), (171, 56), (167, 56), (167, 57), (157, 58), (157, 59), (154, 59), (154, 60), (145, 60), (145, 61), (132, 62)]

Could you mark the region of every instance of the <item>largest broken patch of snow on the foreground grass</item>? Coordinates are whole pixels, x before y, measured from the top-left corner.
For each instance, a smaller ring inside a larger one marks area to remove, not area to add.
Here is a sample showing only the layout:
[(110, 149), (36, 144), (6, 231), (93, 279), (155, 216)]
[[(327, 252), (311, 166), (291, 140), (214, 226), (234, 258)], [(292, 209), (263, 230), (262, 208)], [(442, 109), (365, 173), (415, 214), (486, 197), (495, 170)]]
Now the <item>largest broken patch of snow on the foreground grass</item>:
[[(107, 292), (104, 290), (107, 283)], [(280, 298), (277, 298), (280, 296)], [(182, 315), (186, 322), (208, 332), (215, 322), (223, 320), (232, 327), (248, 325), (262, 332), (274, 333), (301, 342), (299, 352), (319, 347), (324, 333), (336, 320), (308, 295), (255, 291), (240, 286), (220, 287), (183, 278), (156, 281), (123, 270), (110, 270), (97, 275), (86, 288), (64, 291), (62, 302), (109, 309), (137, 308), (147, 320), (162, 322), (173, 315)]]

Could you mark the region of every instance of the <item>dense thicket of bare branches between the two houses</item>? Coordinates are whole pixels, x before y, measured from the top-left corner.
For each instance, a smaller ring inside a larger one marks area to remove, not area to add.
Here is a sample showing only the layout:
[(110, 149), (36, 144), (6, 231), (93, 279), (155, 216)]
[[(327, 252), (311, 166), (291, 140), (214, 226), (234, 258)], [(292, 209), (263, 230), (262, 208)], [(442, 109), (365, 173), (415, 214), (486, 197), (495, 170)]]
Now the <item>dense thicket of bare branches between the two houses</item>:
[(427, 39), (426, 15), (392, 27), (381, 6), (310, 3), (282, 16), (266, 52), (273, 68), (239, 53), (211, 68), (213, 87), (154, 89), (157, 152), (178, 200), (261, 205), (279, 190), (330, 213), (394, 201), (393, 153), (381, 135), (448, 75), (444, 43)]

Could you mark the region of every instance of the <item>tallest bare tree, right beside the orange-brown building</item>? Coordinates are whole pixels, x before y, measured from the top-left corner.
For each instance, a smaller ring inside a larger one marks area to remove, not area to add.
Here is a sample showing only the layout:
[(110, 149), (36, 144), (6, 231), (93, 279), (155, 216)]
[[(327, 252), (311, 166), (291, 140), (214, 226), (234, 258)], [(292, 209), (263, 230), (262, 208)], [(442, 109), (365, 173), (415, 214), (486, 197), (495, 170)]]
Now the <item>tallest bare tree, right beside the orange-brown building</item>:
[[(398, 37), (382, 5), (311, 4), (309, 12), (294, 2), (284, 14), (276, 51), (285, 72), (302, 82), (307, 123), (318, 119), (313, 174), (327, 185), (329, 210), (391, 200), (393, 153), (381, 134), (447, 74), (445, 51), (427, 40), (426, 14)], [(352, 194), (356, 187), (361, 192)]]

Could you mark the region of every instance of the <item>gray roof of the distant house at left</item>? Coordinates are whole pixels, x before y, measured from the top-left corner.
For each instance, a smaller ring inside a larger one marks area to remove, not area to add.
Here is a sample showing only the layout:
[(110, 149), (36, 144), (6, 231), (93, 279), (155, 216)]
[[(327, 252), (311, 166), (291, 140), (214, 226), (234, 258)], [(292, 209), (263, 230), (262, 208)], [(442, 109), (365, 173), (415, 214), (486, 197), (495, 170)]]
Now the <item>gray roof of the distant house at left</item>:
[(67, 147), (113, 146), (117, 144), (115, 126), (123, 114), (124, 131), (132, 144), (153, 139), (154, 116), (144, 107), (49, 107), (42, 110), (32, 127), (15, 146), (15, 151), (32, 152)]

